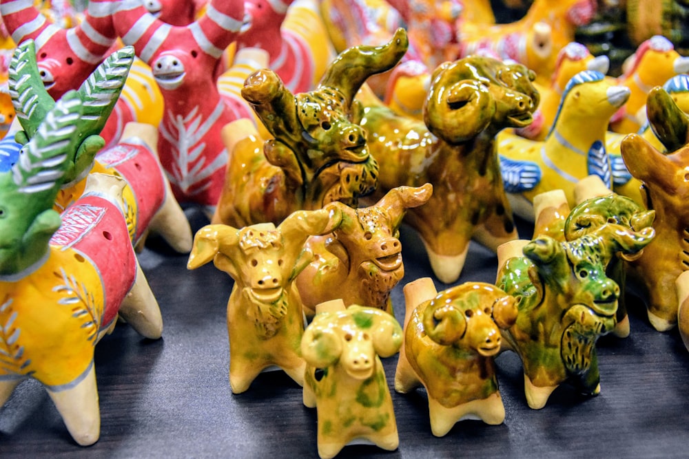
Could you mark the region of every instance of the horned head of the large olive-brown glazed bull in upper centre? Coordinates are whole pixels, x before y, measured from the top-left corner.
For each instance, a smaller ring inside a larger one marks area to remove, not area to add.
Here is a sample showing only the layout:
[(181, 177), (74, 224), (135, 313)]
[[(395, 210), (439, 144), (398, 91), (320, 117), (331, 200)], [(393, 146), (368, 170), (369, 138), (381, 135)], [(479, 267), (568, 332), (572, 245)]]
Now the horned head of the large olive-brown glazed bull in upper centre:
[(274, 136), (266, 144), (266, 158), (286, 169), (314, 206), (356, 204), (375, 189), (378, 163), (369, 154), (360, 126), (362, 107), (354, 96), (369, 76), (398, 63), (407, 45), (400, 29), (386, 45), (349, 48), (311, 92), (291, 94), (271, 70), (245, 81), (242, 96)]

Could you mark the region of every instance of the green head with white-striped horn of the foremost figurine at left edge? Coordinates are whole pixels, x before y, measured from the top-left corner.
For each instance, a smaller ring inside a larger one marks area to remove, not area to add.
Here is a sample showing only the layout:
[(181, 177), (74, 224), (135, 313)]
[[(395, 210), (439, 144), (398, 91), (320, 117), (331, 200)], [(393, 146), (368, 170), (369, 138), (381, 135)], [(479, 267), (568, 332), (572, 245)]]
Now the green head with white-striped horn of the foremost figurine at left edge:
[(76, 149), (81, 108), (76, 92), (65, 94), (10, 171), (0, 173), (0, 275), (17, 275), (48, 253), (61, 224), (52, 205)]

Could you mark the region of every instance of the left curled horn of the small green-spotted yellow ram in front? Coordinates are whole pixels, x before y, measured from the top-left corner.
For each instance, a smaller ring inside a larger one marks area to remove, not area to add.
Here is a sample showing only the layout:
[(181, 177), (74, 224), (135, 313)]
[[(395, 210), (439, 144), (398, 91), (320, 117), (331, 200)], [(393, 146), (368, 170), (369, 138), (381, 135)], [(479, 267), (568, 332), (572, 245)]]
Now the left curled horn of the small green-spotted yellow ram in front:
[(316, 314), (302, 336), (301, 352), (304, 360), (316, 368), (326, 368), (336, 363), (342, 354), (342, 341), (340, 337), (327, 326), (327, 317), (330, 314), (322, 312)]

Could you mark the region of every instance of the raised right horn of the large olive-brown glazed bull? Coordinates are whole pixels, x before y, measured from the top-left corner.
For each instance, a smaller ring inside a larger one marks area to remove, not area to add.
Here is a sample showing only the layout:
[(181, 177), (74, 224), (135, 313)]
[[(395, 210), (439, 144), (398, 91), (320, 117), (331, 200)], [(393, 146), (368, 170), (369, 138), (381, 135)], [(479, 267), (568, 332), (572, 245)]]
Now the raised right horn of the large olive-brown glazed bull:
[(382, 46), (353, 46), (340, 53), (321, 78), (319, 87), (339, 89), (351, 103), (364, 81), (394, 67), (407, 52), (407, 31), (399, 28)]

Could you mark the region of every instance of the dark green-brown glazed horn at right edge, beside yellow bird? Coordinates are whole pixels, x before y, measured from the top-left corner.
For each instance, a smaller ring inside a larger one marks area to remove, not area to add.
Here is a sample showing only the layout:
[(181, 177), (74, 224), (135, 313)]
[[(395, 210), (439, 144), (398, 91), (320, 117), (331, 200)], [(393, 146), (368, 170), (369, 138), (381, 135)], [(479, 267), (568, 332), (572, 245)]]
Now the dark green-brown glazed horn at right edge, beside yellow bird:
[(651, 129), (668, 151), (678, 150), (687, 143), (689, 117), (662, 87), (654, 87), (648, 93), (646, 115)]

